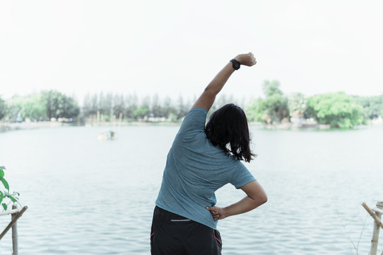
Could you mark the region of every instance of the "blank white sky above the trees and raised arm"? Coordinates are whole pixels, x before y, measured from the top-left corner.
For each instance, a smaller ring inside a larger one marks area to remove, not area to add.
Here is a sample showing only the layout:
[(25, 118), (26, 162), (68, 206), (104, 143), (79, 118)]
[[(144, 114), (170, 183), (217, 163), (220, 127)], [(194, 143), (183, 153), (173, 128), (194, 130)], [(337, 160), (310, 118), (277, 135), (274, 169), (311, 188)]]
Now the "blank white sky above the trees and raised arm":
[[(223, 94), (383, 93), (383, 1), (1, 1), (0, 95), (57, 89), (198, 96), (253, 52)], [(81, 102), (80, 102), (81, 103)]]

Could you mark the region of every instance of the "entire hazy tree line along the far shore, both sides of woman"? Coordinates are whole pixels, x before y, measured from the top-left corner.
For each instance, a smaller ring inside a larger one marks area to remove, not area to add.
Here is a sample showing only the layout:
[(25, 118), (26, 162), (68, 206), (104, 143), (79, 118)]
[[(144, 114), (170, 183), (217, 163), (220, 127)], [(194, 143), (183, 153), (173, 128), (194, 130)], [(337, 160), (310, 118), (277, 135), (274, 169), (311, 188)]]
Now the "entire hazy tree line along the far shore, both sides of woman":
[[(353, 128), (368, 124), (370, 120), (382, 118), (383, 95), (348, 96), (344, 92), (318, 94), (306, 97), (301, 93), (285, 96), (279, 81), (264, 81), (263, 97), (252, 99), (244, 107), (250, 121), (274, 125), (289, 123), (300, 118), (311, 119), (333, 128)], [(94, 118), (111, 121), (168, 121), (179, 122), (187, 114), (196, 97), (184, 100), (179, 96), (173, 100), (155, 94), (138, 98), (135, 94), (122, 95), (100, 92), (84, 96), (82, 106), (73, 96), (59, 91), (42, 91), (28, 96), (13, 96), (5, 101), (0, 96), (0, 120), (7, 122), (62, 120), (87, 122)], [(233, 96), (220, 95), (211, 109), (226, 103), (238, 103)], [(243, 106), (244, 102), (239, 103)], [(97, 116), (97, 117), (96, 117)]]

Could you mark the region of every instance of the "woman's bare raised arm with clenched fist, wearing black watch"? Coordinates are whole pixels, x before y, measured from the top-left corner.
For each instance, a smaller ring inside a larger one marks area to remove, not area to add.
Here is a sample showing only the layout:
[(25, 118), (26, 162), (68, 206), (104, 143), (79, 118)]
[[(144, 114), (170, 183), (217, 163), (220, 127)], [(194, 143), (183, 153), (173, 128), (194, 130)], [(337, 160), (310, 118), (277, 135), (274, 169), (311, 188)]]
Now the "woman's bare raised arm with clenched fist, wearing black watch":
[[(240, 54), (234, 58), (240, 62), (241, 65), (245, 65), (251, 67), (255, 65), (257, 62), (255, 61), (254, 55), (251, 52), (248, 54)], [(221, 91), (223, 86), (226, 84), (226, 81), (231, 77), (231, 74), (235, 71), (232, 62), (228, 62), (223, 69), (210, 81), (209, 85), (206, 86), (204, 92), (199, 96), (196, 103), (194, 103), (192, 108), (205, 108), (207, 111), (210, 110), (211, 106), (213, 106), (214, 100), (216, 100), (216, 96)]]

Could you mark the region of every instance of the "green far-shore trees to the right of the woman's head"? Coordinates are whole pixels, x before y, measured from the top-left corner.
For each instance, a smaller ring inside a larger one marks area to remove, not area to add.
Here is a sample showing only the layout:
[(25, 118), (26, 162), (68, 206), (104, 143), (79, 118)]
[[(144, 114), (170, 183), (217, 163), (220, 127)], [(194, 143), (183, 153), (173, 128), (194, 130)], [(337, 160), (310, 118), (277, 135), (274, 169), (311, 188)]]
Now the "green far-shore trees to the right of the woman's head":
[(306, 97), (301, 93), (284, 96), (279, 81), (264, 81), (264, 98), (253, 100), (246, 108), (248, 118), (267, 124), (311, 119), (331, 128), (353, 128), (383, 116), (383, 94), (348, 96), (344, 92)]

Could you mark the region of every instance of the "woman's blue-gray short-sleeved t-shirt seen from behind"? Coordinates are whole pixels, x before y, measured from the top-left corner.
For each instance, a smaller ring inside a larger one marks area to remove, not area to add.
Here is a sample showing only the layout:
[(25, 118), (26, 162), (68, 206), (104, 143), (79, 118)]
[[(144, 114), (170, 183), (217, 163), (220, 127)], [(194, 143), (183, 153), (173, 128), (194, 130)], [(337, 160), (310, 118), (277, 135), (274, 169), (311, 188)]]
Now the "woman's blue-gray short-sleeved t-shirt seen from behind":
[(155, 204), (167, 211), (216, 229), (206, 206), (227, 183), (240, 188), (255, 178), (236, 157), (213, 146), (205, 134), (207, 111), (192, 108), (174, 138)]

